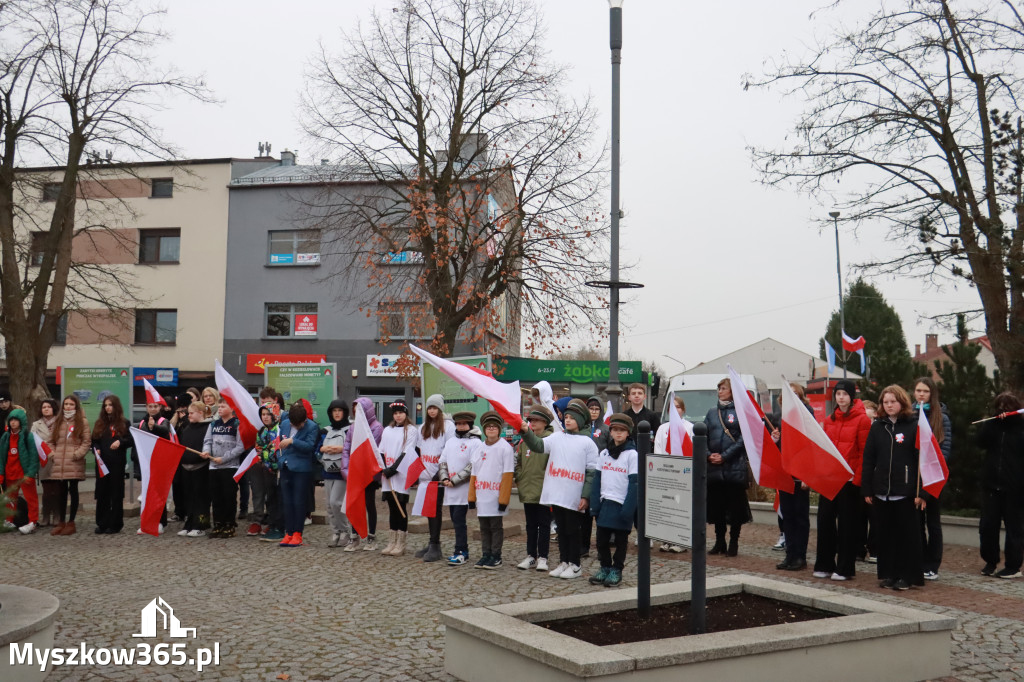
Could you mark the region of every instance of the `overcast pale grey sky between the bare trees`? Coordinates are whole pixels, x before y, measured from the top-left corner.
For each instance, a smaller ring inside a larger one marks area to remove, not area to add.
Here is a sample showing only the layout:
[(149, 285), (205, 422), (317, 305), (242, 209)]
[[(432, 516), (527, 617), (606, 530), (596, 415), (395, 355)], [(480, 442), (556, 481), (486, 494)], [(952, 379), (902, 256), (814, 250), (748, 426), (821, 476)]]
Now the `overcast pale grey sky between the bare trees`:
[[(168, 3), (163, 55), (205, 74), (222, 103), (175, 103), (157, 122), (188, 157), (248, 157), (260, 140), (274, 153), (308, 141), (298, 125), (303, 69), (316, 42), (338, 44), (372, 8), (399, 0), (271, 0)], [(800, 51), (837, 19), (810, 17), (821, 0), (730, 3), (626, 0), (624, 6), (623, 260), (646, 288), (625, 298), (624, 354), (669, 374), (770, 336), (816, 353), (837, 309), (830, 202), (762, 187), (746, 145), (777, 144), (800, 102), (743, 92), (744, 73)], [(859, 3), (858, 3), (859, 4)], [(610, 125), (608, 6), (604, 0), (539, 2), (552, 57), (570, 67), (571, 91), (593, 94)], [(852, 16), (843, 17), (846, 22)], [(898, 249), (871, 226), (841, 236), (844, 285), (852, 264)], [(924, 343), (926, 315), (976, 307), (975, 293), (914, 279), (874, 279), (903, 319), (907, 343)], [(852, 331), (852, 330), (851, 330)], [(975, 330), (980, 331), (979, 329)], [(943, 341), (952, 336), (942, 333)], [(867, 339), (868, 352), (871, 339)]]

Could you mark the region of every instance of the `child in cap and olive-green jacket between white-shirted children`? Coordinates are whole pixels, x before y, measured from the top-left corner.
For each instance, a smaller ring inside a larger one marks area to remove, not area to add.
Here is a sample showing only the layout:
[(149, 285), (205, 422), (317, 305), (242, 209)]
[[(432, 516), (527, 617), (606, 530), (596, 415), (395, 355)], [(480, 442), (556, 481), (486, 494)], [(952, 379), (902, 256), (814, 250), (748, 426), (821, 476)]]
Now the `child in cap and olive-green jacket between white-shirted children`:
[[(526, 415), (530, 430), (539, 438), (546, 438), (554, 431), (554, 415), (544, 406), (535, 406)], [(525, 441), (519, 442), (515, 455), (515, 483), (519, 502), (526, 514), (526, 558), (516, 568), (548, 571), (548, 549), (551, 545), (551, 507), (541, 504), (544, 472), (548, 468), (548, 455), (543, 450), (534, 451)]]

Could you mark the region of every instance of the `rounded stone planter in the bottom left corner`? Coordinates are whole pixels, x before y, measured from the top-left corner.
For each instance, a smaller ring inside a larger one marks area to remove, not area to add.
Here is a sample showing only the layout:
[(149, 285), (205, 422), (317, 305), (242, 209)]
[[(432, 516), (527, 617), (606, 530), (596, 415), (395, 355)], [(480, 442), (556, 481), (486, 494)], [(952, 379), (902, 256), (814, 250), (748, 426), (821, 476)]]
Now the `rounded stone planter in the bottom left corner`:
[[(53, 646), (60, 601), (51, 594), (16, 585), (0, 585), (0, 682), (36, 682), (49, 673), (39, 665), (12, 666), (11, 646)], [(33, 654), (34, 655), (34, 654)]]

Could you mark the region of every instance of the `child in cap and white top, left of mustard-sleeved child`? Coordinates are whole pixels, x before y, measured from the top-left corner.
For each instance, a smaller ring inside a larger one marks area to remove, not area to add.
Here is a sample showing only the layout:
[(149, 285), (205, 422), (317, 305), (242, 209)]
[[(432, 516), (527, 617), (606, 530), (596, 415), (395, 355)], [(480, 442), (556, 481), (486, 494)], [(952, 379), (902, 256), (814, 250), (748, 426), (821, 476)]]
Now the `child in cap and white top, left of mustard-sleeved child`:
[(455, 530), (455, 551), (449, 557), (450, 566), (461, 566), (469, 561), (469, 538), (466, 532), (466, 515), (469, 512), (469, 477), (473, 473), (473, 459), (482, 444), (473, 433), (476, 415), (457, 412), (455, 437), (444, 443), (438, 462), (437, 476), (444, 487), (443, 504), (449, 508)]

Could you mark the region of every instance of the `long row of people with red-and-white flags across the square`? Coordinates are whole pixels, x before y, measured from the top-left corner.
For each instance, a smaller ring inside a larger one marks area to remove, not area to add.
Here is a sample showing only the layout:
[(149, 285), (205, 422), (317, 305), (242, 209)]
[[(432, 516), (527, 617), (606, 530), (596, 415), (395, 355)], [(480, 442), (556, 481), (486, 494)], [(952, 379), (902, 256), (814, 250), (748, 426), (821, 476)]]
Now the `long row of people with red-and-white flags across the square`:
[[(803, 389), (792, 385), (810, 410)], [(637, 425), (646, 421), (654, 437), (654, 452), (668, 453), (668, 424), (645, 407), (646, 387), (629, 387), (623, 413), (603, 418), (602, 402), (561, 398), (554, 410), (535, 401), (519, 425), (513, 447), (502, 437), (505, 420), (487, 412), (476, 423), (470, 412), (444, 412), (440, 395), (425, 403), (423, 423), (413, 423), (402, 400), (390, 404), (387, 426), (377, 419), (369, 398), (357, 397), (353, 410), (362, 412), (377, 442), (383, 470), (361, 493), (367, 534), (353, 530), (345, 513), (346, 482), (353, 446), (349, 406), (336, 399), (322, 426), (305, 400), (286, 406), (272, 388), (259, 393), (262, 424), (256, 434), (257, 464), (237, 482), (245, 458), (239, 419), (216, 389), (189, 389), (172, 407), (146, 406), (137, 425), (124, 416), (117, 396), (103, 399), (101, 413), (90, 427), (75, 395), (59, 403), (46, 399), (38, 418), (0, 393), (0, 417), (5, 427), (0, 440), (3, 488), (16, 512), (5, 523), (22, 534), (48, 528), (51, 536), (78, 531), (79, 483), (85, 479), (88, 453), (102, 463), (105, 475), (95, 486), (96, 534), (118, 534), (124, 527), (125, 480), (130, 427), (159, 437), (176, 437), (185, 446), (174, 476), (170, 510), (161, 519), (161, 532), (179, 522), (177, 535), (223, 540), (236, 535), (239, 521), (246, 535), (284, 548), (301, 547), (304, 526), (310, 522), (314, 486), (322, 477), (326, 492), (330, 547), (345, 552), (375, 551), (387, 556), (406, 554), (411, 487), (436, 482), (428, 518), (428, 540), (415, 556), (426, 562), (445, 559), (450, 565), (470, 562), (468, 512), (475, 510), (481, 555), (476, 568), (503, 565), (503, 517), (512, 489), (518, 492), (525, 515), (526, 556), (522, 570), (546, 571), (571, 580), (583, 574), (582, 559), (592, 541), (599, 569), (595, 585), (622, 582), (629, 535), (637, 516)], [(881, 409), (857, 398), (856, 384), (843, 380), (833, 392), (834, 412), (824, 420), (825, 434), (853, 471), (833, 499), (821, 496), (817, 511), (817, 552), (813, 577), (847, 581), (858, 560), (877, 563), (881, 585), (895, 590), (937, 580), (942, 563), (941, 502), (922, 488), (919, 473), (918, 415), (924, 411), (932, 433), (950, 466), (952, 432), (939, 391), (929, 378), (914, 382), (911, 395), (899, 386), (880, 394)], [(978, 439), (987, 453), (983, 473), (981, 513), (982, 572), (1018, 578), (1024, 560), (1024, 416), (1020, 399), (1000, 393), (993, 403), (999, 419), (985, 422)], [(672, 409), (682, 417), (686, 406), (674, 396)], [(729, 379), (718, 385), (718, 404), (705, 417), (708, 427), (708, 522), (715, 542), (709, 552), (736, 556), (741, 526), (753, 520), (746, 491), (752, 475), (733, 402)], [(782, 434), (780, 414), (766, 419), (776, 442)], [(48, 452), (45, 463), (38, 450)], [(422, 464), (418, 480), (404, 475), (413, 460)], [(138, 471), (138, 466), (134, 467)], [(38, 485), (38, 488), (37, 488)], [(41, 491), (41, 495), (39, 492)], [(377, 494), (387, 505), (388, 538), (379, 543)], [(785, 551), (780, 570), (808, 567), (810, 534), (808, 485), (795, 480), (793, 493), (779, 493), (780, 537), (775, 549)], [(15, 500), (22, 505), (18, 509)], [(455, 529), (452, 553), (441, 547), (441, 522), (447, 515)], [(22, 516), (22, 518), (17, 518)], [(999, 528), (1007, 531), (1004, 567), (998, 569)], [(596, 534), (594, 526), (597, 526)], [(557, 556), (549, 557), (552, 529), (557, 530)], [(662, 551), (682, 552), (665, 544)]]

